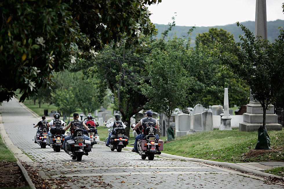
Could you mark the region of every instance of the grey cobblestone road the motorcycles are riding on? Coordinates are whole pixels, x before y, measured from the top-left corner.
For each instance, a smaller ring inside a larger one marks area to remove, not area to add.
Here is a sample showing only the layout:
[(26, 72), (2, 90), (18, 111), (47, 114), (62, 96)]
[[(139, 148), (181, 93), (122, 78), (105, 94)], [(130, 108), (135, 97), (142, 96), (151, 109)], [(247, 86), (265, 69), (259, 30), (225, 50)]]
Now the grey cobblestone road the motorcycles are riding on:
[(32, 124), (40, 119), (32, 116), (16, 100), (3, 102), (0, 112), (12, 142), (46, 175), (65, 180), (60, 186), (62, 188), (283, 188), (244, 177), (240, 172), (235, 174), (225, 168), (196, 162), (158, 156), (153, 161), (142, 160), (136, 153), (128, 150), (112, 152), (101, 144), (94, 145), (92, 152), (77, 162), (64, 151), (54, 152), (49, 146), (43, 149), (32, 141), (36, 133)]

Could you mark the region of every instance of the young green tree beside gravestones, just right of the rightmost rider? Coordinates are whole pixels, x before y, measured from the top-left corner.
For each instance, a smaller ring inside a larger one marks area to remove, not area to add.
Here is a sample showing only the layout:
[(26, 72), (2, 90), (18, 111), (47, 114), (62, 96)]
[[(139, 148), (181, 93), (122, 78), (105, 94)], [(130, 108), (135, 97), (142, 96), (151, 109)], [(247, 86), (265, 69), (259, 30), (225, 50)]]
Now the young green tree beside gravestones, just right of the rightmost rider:
[(192, 78), (187, 78), (183, 62), (186, 55), (183, 39), (170, 39), (165, 43), (165, 50), (153, 49), (147, 61), (150, 83), (143, 83), (139, 88), (148, 98), (145, 107), (163, 112), (170, 118), (175, 108), (183, 106), (191, 99)]

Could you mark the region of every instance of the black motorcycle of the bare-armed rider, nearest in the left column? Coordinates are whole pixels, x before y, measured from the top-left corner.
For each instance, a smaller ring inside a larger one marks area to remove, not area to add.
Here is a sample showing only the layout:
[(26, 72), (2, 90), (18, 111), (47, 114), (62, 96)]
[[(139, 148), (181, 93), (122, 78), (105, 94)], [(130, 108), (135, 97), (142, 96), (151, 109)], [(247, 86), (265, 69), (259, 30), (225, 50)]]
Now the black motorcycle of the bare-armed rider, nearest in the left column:
[[(88, 124), (90, 127), (91, 125)], [(88, 132), (94, 132), (94, 129), (90, 129)], [(73, 160), (77, 159), (77, 161), (82, 160), (83, 155), (88, 155), (91, 149), (91, 141), (85, 140), (83, 129), (76, 129), (74, 131), (74, 138), (66, 141), (66, 153), (68, 153)]]

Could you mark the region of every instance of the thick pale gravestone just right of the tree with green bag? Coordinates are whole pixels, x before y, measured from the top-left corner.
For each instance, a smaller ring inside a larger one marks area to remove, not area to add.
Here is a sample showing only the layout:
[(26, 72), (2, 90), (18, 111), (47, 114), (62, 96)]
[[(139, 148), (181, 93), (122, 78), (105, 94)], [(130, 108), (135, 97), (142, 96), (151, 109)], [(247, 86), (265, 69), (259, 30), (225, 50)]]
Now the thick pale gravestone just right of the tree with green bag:
[(175, 116), (176, 137), (186, 135), (186, 132), (190, 130), (190, 115), (186, 113), (177, 114)]

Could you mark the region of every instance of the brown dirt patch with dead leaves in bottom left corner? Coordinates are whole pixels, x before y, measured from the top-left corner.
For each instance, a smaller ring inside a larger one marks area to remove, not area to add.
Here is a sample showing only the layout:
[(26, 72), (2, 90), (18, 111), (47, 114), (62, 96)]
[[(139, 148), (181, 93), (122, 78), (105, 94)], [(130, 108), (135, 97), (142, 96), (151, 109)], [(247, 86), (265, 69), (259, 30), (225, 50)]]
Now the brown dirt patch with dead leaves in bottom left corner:
[(27, 186), (17, 163), (2, 161), (0, 167), (0, 188)]

